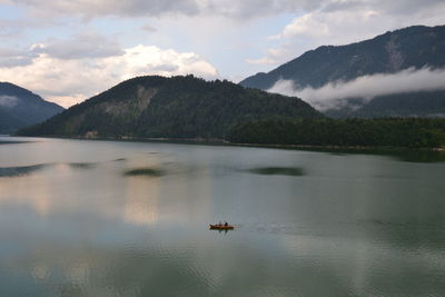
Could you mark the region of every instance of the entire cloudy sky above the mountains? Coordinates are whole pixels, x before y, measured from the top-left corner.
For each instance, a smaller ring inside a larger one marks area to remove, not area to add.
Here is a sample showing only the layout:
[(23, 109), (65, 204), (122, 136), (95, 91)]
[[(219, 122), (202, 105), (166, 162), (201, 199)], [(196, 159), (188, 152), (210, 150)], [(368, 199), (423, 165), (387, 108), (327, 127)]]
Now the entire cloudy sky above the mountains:
[(0, 81), (63, 107), (136, 76), (238, 82), (444, 16), (443, 0), (0, 0)]

